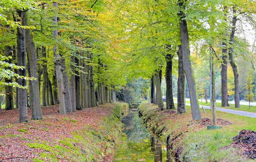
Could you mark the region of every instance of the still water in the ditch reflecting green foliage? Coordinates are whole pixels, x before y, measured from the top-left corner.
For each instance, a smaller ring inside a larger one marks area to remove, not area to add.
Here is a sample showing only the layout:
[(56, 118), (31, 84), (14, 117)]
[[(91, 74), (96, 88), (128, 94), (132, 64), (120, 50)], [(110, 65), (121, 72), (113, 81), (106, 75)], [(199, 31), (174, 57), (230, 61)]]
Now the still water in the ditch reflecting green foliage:
[(123, 118), (125, 138), (116, 147), (113, 162), (165, 162), (166, 147), (143, 126), (137, 108)]

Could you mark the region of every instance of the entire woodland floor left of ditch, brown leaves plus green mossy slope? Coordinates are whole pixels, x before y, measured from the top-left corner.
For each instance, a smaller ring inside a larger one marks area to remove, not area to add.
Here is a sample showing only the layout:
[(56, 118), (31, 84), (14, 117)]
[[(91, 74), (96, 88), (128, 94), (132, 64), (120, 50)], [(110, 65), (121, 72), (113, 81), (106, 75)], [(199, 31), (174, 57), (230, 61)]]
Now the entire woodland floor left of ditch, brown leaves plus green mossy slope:
[[(67, 115), (58, 114), (58, 105), (42, 107), (44, 119), (27, 123), (18, 123), (18, 110), (3, 110), (0, 162), (111, 161), (119, 130), (108, 127), (121, 127), (111, 118), (115, 107), (105, 104)], [(30, 108), (28, 114), (31, 119)]]

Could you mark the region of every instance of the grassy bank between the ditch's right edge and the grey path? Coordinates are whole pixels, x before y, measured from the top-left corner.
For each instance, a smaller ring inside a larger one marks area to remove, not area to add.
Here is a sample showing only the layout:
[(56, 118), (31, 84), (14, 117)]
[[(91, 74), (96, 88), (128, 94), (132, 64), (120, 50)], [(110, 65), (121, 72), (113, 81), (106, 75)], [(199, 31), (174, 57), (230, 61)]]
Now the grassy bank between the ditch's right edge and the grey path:
[[(177, 107), (177, 104), (175, 104)], [(170, 145), (173, 155), (180, 161), (210, 162), (210, 161), (247, 161), (238, 154), (236, 148), (226, 148), (233, 141), (239, 131), (256, 130), (256, 118), (239, 116), (230, 113), (217, 112), (217, 118), (228, 120), (231, 125), (224, 125), (219, 130), (207, 130), (207, 125), (201, 122), (192, 122), (190, 106), (186, 106), (186, 113), (177, 115), (170, 110), (160, 111), (157, 105), (143, 103), (140, 113), (149, 129), (166, 142), (170, 135)], [(206, 113), (200, 109), (202, 118), (211, 119), (211, 111)], [(170, 114), (172, 113), (172, 114)]]

